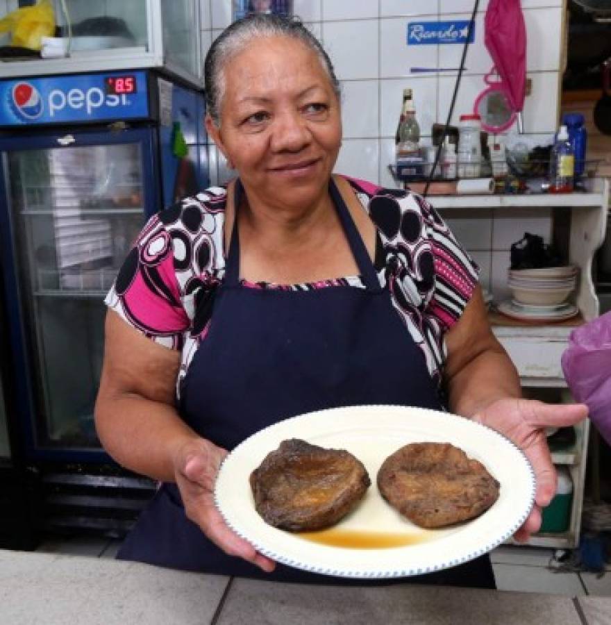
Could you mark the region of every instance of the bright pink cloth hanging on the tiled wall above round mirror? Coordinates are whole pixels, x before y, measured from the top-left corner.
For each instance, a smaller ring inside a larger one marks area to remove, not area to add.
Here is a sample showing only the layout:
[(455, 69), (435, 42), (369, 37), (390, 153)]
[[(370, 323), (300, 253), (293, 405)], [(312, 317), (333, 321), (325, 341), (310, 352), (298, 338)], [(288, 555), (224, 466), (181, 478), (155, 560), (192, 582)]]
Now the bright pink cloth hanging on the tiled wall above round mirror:
[(526, 26), (520, 0), (490, 0), (485, 17), (485, 45), (514, 111), (526, 96)]

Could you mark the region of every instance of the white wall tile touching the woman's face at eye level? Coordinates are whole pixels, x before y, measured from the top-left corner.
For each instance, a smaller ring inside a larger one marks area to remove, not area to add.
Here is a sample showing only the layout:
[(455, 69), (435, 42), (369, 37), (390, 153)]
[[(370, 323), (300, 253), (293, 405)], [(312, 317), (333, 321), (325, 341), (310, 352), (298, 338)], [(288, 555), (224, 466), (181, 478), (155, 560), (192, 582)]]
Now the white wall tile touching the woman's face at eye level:
[(342, 124), (344, 138), (378, 138), (378, 81), (342, 83)]

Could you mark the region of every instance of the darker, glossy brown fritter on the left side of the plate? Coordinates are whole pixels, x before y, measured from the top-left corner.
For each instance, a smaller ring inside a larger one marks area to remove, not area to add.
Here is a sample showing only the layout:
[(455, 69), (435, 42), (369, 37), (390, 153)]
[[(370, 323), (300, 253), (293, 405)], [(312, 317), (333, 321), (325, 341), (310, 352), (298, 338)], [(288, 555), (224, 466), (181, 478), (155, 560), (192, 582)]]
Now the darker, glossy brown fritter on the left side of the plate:
[(257, 512), (292, 532), (323, 529), (345, 517), (371, 484), (348, 451), (284, 440), (251, 473)]

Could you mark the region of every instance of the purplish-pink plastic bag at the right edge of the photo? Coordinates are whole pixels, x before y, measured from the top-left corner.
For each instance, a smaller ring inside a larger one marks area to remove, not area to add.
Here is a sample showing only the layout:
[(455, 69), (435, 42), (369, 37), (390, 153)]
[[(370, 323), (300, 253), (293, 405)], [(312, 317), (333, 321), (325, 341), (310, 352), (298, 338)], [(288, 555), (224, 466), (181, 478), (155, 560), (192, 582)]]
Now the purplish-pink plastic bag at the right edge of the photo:
[(611, 444), (611, 312), (571, 332), (562, 371), (576, 401)]

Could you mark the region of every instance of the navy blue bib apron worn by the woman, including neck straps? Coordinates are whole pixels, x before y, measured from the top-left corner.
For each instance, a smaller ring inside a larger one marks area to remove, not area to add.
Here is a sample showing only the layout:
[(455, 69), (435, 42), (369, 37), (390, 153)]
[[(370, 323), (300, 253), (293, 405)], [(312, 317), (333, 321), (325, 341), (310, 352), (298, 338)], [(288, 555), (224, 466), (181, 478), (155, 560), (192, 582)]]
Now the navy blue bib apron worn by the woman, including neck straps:
[[(215, 296), (208, 335), (181, 387), (180, 410), (187, 424), (231, 450), (262, 428), (322, 408), (385, 403), (442, 409), (424, 353), (394, 310), (390, 291), (380, 286), (335, 183), (330, 183), (330, 195), (365, 288), (277, 290), (240, 284), (237, 210), (242, 194), (237, 181), (225, 280)], [(227, 556), (185, 517), (174, 484), (160, 487), (117, 557), (267, 580), (367, 583), (279, 564), (267, 574)], [(488, 558), (405, 581), (494, 587)]]

